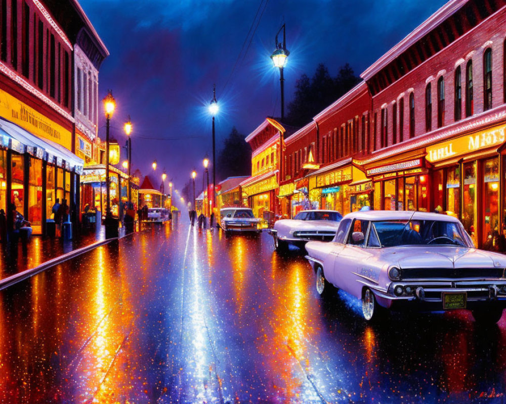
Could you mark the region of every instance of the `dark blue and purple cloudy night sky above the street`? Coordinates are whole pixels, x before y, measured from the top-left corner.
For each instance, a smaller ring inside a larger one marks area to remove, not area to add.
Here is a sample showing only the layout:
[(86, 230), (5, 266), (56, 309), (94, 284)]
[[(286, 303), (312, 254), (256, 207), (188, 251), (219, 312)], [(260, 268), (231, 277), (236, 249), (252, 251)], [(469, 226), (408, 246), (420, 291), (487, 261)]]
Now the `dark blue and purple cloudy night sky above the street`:
[(192, 169), (201, 177), (202, 159), (212, 154), (204, 106), (214, 83), (221, 106), (217, 148), (232, 126), (247, 135), (266, 116), (280, 115), (279, 71), (269, 56), (283, 22), (290, 51), (286, 109), (303, 73), (312, 77), (323, 62), (335, 76), (348, 62), (359, 75), (445, 3), (80, 0), (110, 52), (100, 70), (99, 97), (111, 88), (116, 98), (111, 134), (123, 145), (122, 124), (131, 115), (133, 168), (151, 174), (156, 159), (159, 182), (165, 168), (179, 189)]

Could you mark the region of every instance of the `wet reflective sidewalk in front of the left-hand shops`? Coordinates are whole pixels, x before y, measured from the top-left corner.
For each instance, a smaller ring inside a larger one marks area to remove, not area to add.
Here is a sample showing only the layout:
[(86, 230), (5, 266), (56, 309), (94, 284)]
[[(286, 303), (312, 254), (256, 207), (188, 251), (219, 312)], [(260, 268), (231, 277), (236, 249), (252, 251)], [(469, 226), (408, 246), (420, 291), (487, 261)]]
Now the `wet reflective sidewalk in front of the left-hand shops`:
[[(119, 237), (124, 235), (124, 230), (119, 228)], [(100, 226), (97, 232), (74, 235), (72, 240), (32, 236), (30, 241), (19, 241), (17, 245), (0, 243), (0, 280), (104, 239), (105, 228)]]

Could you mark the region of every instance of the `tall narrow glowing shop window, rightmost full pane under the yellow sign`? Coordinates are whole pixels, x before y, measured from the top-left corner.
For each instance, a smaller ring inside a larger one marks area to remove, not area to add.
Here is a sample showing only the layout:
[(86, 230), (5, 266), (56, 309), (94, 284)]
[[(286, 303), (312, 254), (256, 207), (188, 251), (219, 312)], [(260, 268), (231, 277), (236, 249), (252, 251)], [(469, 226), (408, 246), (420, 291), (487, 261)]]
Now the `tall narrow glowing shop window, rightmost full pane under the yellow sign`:
[(483, 246), (497, 249), (496, 240), (499, 235), (499, 161), (497, 158), (485, 160), (485, 204), (483, 217)]

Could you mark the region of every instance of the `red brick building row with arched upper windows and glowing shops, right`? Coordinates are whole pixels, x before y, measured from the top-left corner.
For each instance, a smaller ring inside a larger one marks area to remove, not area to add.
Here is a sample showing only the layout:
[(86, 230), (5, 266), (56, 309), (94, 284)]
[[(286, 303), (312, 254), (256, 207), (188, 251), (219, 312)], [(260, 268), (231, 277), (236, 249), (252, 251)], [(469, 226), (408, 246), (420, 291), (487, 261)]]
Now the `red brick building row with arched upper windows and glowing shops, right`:
[(307, 207), (444, 211), (476, 245), (496, 248), (506, 223), (504, 26), (506, 1), (452, 0), (379, 58), (286, 138), (283, 213), (307, 183)]

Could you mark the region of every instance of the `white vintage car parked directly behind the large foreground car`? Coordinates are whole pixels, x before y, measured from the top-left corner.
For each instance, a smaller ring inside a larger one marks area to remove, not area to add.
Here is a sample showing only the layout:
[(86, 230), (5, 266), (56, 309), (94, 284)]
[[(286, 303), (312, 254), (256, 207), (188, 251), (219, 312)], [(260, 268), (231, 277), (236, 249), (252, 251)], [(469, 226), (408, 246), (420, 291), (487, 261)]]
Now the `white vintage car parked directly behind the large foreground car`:
[(338, 231), (343, 216), (338, 211), (302, 211), (293, 219), (274, 223), (270, 234), (274, 248), (284, 251), (288, 244), (304, 247), (309, 240), (331, 241)]

